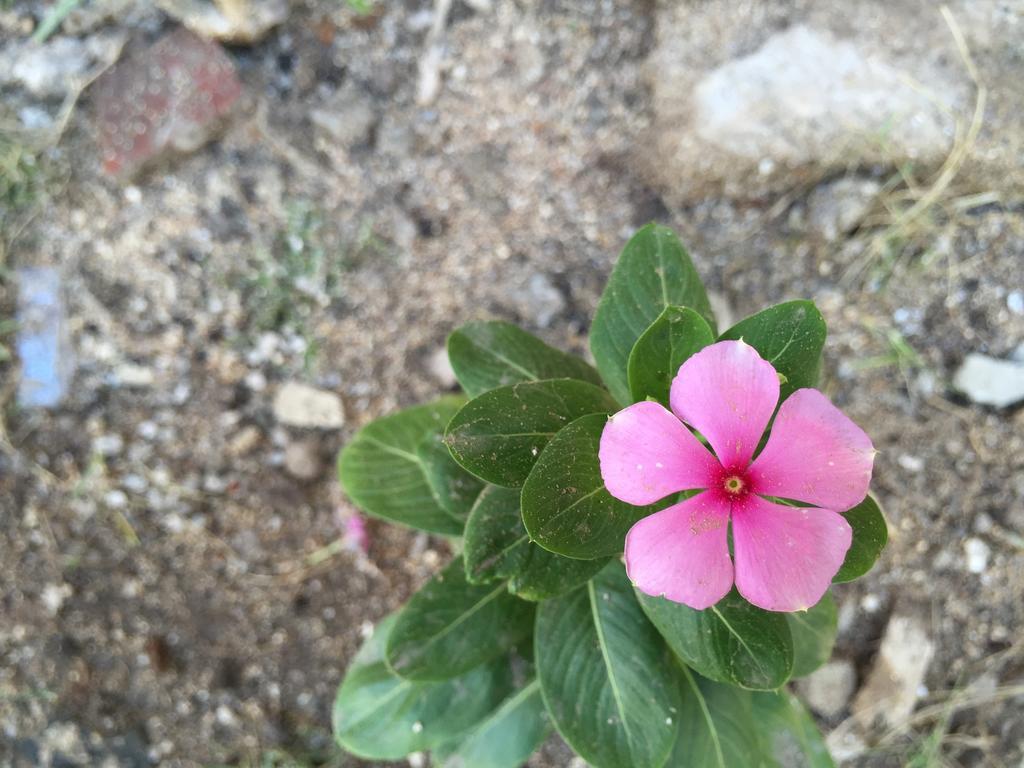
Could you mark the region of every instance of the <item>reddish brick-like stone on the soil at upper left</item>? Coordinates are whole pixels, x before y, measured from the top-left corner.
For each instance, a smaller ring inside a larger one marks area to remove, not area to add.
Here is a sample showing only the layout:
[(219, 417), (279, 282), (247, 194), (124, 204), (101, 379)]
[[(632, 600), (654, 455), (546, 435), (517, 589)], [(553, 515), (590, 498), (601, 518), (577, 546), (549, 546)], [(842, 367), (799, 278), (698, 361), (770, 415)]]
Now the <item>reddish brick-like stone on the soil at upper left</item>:
[(129, 177), (206, 143), (242, 95), (223, 48), (185, 29), (137, 50), (96, 84), (103, 171)]

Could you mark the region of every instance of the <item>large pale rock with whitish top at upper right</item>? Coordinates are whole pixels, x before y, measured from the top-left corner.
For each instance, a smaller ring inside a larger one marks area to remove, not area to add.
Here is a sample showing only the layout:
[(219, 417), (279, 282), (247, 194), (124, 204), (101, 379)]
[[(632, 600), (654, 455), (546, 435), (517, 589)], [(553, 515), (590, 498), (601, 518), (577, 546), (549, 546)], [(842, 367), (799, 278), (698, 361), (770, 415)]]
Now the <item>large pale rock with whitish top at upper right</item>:
[[(654, 125), (645, 155), (669, 198), (760, 198), (838, 170), (934, 164), (948, 154), (953, 108), (967, 92), (955, 73), (933, 72), (896, 42), (841, 39), (823, 26), (797, 23), (766, 38), (773, 25), (752, 9), (760, 4), (692, 5), (666, 4), (649, 66)], [(861, 4), (851, 17), (872, 12)], [(753, 52), (729, 59), (736, 50)], [(856, 191), (844, 195), (848, 205), (822, 206), (826, 237), (854, 226), (877, 187), (843, 191)]]

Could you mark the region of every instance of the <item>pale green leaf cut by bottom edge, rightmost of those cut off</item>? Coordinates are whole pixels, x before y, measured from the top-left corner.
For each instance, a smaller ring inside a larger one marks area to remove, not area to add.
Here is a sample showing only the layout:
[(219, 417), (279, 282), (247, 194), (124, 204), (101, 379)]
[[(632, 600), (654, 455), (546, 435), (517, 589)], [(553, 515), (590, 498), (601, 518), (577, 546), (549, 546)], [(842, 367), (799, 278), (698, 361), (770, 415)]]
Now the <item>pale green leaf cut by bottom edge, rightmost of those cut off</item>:
[(821, 732), (803, 705), (787, 691), (752, 693), (754, 721), (773, 768), (834, 768)]

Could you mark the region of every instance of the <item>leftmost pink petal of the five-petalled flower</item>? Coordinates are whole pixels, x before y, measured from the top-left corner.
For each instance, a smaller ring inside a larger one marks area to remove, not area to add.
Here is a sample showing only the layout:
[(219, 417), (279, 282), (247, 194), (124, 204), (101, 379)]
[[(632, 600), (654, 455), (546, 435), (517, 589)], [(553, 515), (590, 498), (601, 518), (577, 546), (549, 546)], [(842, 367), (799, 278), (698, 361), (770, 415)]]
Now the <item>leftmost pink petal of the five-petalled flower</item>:
[(598, 458), (608, 493), (636, 505), (706, 488), (718, 466), (693, 433), (656, 402), (637, 402), (608, 419)]

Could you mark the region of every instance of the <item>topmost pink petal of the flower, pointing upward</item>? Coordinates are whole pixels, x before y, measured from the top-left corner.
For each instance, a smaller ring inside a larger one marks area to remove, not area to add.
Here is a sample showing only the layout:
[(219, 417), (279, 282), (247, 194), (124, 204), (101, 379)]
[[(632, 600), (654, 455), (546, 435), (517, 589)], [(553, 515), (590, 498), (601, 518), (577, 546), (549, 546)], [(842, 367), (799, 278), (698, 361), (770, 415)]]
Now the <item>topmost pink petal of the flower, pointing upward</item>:
[(720, 341), (680, 367), (669, 401), (722, 466), (745, 468), (778, 402), (778, 374), (750, 344)]

